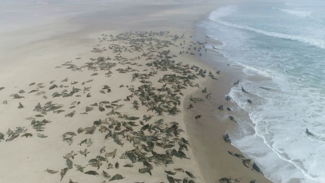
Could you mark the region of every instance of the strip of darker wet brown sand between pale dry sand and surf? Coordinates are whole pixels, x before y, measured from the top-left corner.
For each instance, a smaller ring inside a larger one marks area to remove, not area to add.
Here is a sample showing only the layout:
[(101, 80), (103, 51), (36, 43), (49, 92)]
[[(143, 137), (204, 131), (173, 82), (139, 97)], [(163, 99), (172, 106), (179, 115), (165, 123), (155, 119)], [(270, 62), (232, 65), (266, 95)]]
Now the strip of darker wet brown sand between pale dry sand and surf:
[[(205, 32), (201, 27), (198, 27), (196, 36), (194, 38), (203, 37)], [(203, 36), (202, 36), (203, 35)], [(205, 38), (200, 42), (207, 41), (208, 44), (218, 44), (211, 38)], [(211, 51), (211, 53), (209, 52)], [(193, 104), (187, 96), (184, 102), (184, 111), (186, 117), (187, 130), (196, 149), (194, 149), (194, 156), (198, 158), (201, 170), (206, 178), (206, 182), (219, 182), (220, 178), (237, 178), (240, 181), (250, 182), (256, 179), (257, 182), (272, 182), (261, 173), (251, 171), (251, 168), (246, 168), (242, 160), (245, 158), (237, 158), (231, 156), (228, 150), (234, 154), (243, 155), (243, 153), (235, 146), (226, 143), (223, 140), (223, 135), (228, 129), (236, 126), (234, 121), (231, 121), (228, 115), (232, 115), (236, 111), (227, 111), (226, 107), (234, 109), (232, 102), (226, 101), (225, 96), (229, 94), (233, 83), (236, 82), (237, 74), (242, 72), (241, 68), (228, 66), (228, 61), (221, 54), (214, 53), (215, 50), (208, 49), (207, 53), (201, 56), (201, 60), (219, 70), (220, 74), (214, 73), (218, 80), (207, 81), (203, 86), (200, 86), (196, 92), (192, 93), (192, 97), (204, 98), (204, 102)], [(207, 93), (203, 94), (202, 89), (207, 87)], [(205, 96), (211, 94), (211, 99), (206, 99)], [(192, 109), (187, 109), (188, 105), (192, 104)], [(196, 106), (197, 105), (197, 106)], [(223, 111), (218, 107), (223, 105)], [(194, 119), (196, 115), (202, 115), (199, 119)], [(222, 116), (222, 117), (221, 117)]]

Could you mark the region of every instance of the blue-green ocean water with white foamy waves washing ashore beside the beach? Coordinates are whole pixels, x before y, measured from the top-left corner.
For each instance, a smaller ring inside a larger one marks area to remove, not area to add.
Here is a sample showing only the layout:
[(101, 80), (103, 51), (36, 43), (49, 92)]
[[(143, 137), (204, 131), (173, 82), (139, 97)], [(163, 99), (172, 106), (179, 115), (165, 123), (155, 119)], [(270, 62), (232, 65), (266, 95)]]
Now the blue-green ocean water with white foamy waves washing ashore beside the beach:
[(243, 68), (229, 95), (252, 122), (235, 114), (233, 145), (274, 182), (325, 182), (325, 1), (224, 6), (199, 26)]

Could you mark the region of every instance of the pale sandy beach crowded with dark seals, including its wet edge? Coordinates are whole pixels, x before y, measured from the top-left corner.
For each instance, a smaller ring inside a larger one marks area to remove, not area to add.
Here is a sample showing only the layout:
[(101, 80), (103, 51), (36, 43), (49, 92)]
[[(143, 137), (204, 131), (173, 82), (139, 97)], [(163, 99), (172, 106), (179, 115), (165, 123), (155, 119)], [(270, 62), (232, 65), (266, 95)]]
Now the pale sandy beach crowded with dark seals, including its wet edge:
[(271, 182), (217, 117), (239, 69), (194, 25), (223, 4), (112, 1), (1, 50), (1, 182)]

